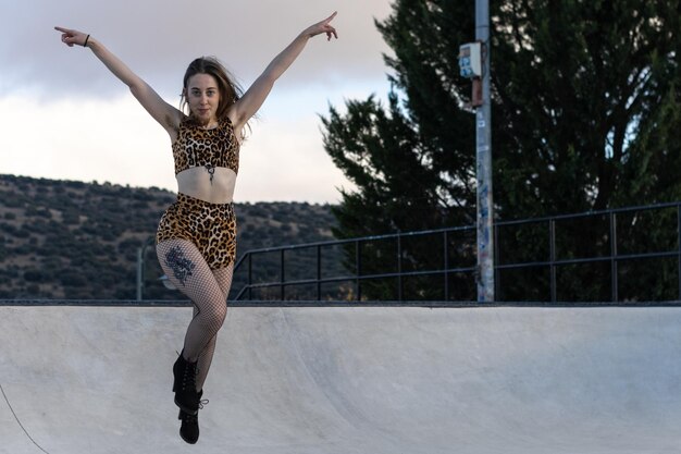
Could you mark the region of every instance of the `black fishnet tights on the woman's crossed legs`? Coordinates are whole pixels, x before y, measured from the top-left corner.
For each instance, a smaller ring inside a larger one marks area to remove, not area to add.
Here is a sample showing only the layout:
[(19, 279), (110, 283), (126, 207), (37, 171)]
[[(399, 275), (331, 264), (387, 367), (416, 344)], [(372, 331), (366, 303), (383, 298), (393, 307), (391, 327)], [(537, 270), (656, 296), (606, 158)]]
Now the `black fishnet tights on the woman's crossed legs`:
[(218, 331), (227, 315), (234, 267), (211, 270), (197, 247), (186, 240), (159, 243), (157, 255), (168, 279), (194, 304), (183, 352), (188, 361), (198, 361), (196, 389), (201, 391), (213, 360)]

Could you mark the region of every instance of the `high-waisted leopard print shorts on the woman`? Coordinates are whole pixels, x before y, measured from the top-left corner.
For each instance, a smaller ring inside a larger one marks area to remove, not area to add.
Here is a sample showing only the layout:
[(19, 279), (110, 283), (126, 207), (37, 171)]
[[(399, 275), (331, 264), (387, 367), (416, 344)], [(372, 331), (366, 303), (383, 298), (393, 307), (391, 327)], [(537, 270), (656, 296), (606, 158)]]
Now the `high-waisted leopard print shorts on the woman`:
[(211, 204), (178, 193), (161, 217), (156, 244), (187, 240), (212, 270), (226, 268), (236, 258), (236, 217), (232, 204)]

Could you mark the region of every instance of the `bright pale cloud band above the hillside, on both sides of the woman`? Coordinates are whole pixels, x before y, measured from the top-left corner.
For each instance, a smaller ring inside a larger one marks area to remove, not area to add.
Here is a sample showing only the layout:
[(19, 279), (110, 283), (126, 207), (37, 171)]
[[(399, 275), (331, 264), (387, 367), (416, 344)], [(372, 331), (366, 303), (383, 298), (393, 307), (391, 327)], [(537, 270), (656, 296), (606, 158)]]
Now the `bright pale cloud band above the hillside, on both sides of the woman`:
[[(288, 109), (298, 99), (321, 111), (326, 100), (314, 93), (286, 94), (251, 122), (236, 201), (337, 203), (337, 188), (352, 187), (322, 147), (317, 112)], [(0, 173), (176, 189), (170, 139), (129, 95), (47, 103), (8, 97), (0, 112), (12, 125)]]

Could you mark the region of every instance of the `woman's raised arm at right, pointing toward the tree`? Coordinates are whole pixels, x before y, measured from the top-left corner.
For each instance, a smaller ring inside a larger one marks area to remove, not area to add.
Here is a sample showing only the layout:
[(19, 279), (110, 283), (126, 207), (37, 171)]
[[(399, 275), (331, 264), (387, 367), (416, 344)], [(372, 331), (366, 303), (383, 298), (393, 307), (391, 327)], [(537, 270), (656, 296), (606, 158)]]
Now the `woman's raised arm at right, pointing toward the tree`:
[(336, 16), (334, 12), (325, 20), (318, 22), (304, 29), (300, 35), (293, 40), (278, 56), (272, 60), (263, 73), (246, 90), (244, 96), (232, 107), (230, 118), (236, 131), (240, 131), (244, 124), (256, 114), (262, 106), (268, 95), (274, 86), (274, 82), (298, 58), (308, 39), (313, 36), (326, 34), (326, 40), (331, 37), (338, 38), (336, 29), (331, 25), (331, 21)]

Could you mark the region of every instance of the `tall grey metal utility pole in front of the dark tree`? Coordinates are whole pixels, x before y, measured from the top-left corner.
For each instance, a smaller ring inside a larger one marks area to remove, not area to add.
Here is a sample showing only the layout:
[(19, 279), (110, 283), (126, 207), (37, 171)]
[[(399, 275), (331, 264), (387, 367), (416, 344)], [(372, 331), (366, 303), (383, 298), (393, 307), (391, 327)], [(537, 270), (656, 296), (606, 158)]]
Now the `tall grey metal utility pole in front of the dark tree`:
[(478, 302), (494, 300), (494, 210), (490, 99), (490, 2), (475, 0), (475, 39), (482, 42), (482, 99), (475, 112), (478, 176)]

